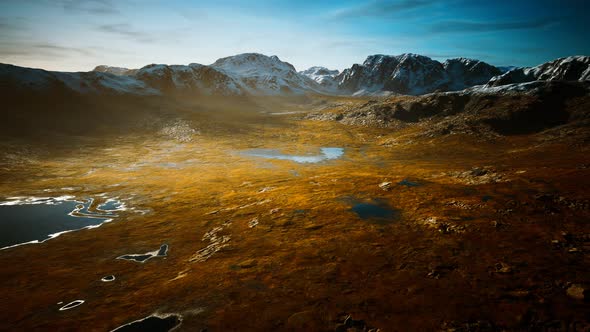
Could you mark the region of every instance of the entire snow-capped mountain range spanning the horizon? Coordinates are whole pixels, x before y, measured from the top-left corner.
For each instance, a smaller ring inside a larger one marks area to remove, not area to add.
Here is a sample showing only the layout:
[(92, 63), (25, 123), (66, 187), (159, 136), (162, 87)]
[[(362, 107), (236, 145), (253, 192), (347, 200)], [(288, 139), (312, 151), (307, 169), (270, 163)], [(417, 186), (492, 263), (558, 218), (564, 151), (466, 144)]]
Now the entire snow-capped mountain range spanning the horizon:
[(64, 91), (116, 95), (422, 95), (477, 87), (497, 89), (532, 81), (588, 81), (590, 57), (560, 58), (536, 67), (495, 67), (466, 58), (444, 62), (417, 54), (371, 55), (342, 72), (297, 71), (277, 56), (244, 53), (211, 65), (151, 64), (140, 69), (97, 66), (90, 72), (52, 72), (0, 64), (5, 91)]

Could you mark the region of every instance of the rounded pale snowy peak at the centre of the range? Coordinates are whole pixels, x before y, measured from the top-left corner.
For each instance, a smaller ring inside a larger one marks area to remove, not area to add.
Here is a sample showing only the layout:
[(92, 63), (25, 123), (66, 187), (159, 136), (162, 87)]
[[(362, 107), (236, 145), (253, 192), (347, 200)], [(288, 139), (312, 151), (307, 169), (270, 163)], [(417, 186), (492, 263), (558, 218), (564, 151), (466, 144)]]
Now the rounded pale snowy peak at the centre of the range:
[(244, 53), (221, 58), (210, 67), (233, 78), (248, 93), (281, 95), (318, 92), (321, 87), (310, 78), (299, 74), (293, 65), (276, 55)]

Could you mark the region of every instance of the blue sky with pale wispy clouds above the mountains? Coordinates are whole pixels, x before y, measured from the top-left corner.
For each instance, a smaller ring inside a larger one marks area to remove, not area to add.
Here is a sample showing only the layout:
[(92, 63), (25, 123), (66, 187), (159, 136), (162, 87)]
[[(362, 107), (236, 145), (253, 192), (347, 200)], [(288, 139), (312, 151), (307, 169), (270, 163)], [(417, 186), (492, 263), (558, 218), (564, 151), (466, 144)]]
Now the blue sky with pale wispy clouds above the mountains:
[(590, 55), (588, 0), (0, 0), (0, 62), (60, 71), (277, 55), (297, 70), (368, 55), (534, 66)]

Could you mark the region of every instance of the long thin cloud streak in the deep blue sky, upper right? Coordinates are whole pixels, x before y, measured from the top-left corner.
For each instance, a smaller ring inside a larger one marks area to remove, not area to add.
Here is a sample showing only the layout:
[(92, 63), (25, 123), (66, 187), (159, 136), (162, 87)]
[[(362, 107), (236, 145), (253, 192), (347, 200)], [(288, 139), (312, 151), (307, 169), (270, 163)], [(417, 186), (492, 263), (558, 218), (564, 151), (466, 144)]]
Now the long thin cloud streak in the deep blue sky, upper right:
[(431, 33), (471, 33), (527, 30), (547, 28), (558, 22), (559, 21), (555, 18), (511, 22), (441, 21), (432, 24), (429, 30)]

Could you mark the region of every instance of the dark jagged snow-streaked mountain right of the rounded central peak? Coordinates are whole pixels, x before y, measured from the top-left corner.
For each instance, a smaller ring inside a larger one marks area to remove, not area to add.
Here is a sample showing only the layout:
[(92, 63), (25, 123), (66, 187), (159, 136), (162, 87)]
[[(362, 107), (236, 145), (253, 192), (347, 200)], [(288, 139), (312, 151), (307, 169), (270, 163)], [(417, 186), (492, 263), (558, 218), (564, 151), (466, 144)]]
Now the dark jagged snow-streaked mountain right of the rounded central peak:
[(352, 94), (392, 92), (419, 95), (483, 84), (500, 70), (479, 60), (451, 59), (444, 64), (418, 54), (371, 55), (336, 76), (339, 89)]

